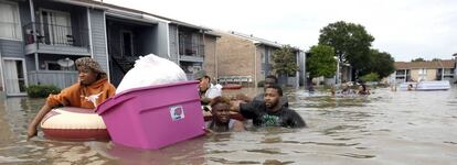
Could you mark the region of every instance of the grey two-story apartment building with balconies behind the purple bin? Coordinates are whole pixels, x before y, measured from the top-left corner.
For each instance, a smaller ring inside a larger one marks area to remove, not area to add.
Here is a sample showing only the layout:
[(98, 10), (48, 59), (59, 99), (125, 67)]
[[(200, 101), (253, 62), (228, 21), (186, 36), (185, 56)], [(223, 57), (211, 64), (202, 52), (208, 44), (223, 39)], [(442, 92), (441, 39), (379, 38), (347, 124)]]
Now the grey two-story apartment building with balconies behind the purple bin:
[(0, 0), (0, 9), (1, 87), (8, 96), (24, 95), (28, 85), (74, 84), (74, 61), (84, 56), (118, 85), (139, 56), (153, 53), (193, 72), (205, 52), (215, 52), (209, 29), (99, 1)]

